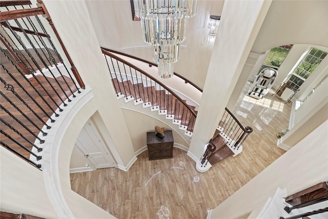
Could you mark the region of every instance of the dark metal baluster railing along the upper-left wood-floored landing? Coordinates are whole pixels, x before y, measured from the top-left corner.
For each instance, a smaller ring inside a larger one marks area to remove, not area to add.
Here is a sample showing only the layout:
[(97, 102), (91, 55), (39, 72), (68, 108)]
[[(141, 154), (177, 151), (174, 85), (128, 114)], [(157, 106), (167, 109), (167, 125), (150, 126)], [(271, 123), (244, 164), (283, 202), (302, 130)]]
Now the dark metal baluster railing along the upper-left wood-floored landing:
[[(37, 145), (45, 143), (42, 136), (51, 129), (53, 117), (59, 116), (57, 112), (65, 109), (84, 84), (43, 2), (38, 3), (37, 8), (25, 0), (0, 3), (0, 144), (40, 168), (37, 161), (42, 156), (38, 153), (43, 149)], [(38, 15), (46, 15), (47, 21)], [(50, 37), (45, 25), (51, 26), (55, 38)], [(57, 44), (63, 47), (70, 70)]]

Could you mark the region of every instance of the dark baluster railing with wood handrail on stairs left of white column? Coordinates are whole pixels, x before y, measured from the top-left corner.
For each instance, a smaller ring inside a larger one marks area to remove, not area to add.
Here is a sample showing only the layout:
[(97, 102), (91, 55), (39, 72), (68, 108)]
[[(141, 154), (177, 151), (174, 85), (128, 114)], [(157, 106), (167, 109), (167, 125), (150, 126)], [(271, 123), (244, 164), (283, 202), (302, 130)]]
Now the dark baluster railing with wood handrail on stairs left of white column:
[(186, 129), (189, 135), (192, 134), (196, 113), (186, 101), (144, 70), (105, 49), (101, 51), (105, 55), (117, 96), (124, 95), (126, 100), (133, 98), (136, 103), (166, 114), (180, 128)]

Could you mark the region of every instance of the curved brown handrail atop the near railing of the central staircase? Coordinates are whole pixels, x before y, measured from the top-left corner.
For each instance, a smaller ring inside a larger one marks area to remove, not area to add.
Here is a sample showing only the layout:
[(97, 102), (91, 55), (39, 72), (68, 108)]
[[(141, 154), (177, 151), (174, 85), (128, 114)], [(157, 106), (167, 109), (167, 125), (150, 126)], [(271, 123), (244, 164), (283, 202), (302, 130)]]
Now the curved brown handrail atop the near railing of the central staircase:
[(103, 52), (103, 54), (108, 55), (110, 57), (113, 57), (115, 59), (117, 59), (118, 61), (120, 61), (121, 63), (124, 63), (132, 68), (134, 68), (135, 70), (139, 71), (140, 73), (146, 75), (147, 77), (149, 77), (150, 79), (152, 79), (153, 81), (155, 81), (157, 84), (159, 84), (160, 86), (162, 86), (163, 88), (165, 88), (167, 91), (169, 91), (173, 96), (175, 96), (183, 105), (185, 105), (187, 107), (187, 109), (191, 112), (191, 114), (193, 114), (195, 117), (197, 117), (196, 113), (194, 112), (194, 110), (191, 109), (190, 106), (188, 106), (187, 103), (185, 103), (185, 101), (183, 101), (183, 99), (181, 99), (178, 95), (176, 95), (170, 88), (168, 88), (166, 85), (164, 85), (163, 83), (159, 82), (155, 77), (153, 77), (152, 75), (148, 74), (147, 72), (145, 72), (144, 70), (138, 68), (137, 66), (125, 61), (124, 59), (112, 54), (111, 52), (101, 48), (101, 51)]

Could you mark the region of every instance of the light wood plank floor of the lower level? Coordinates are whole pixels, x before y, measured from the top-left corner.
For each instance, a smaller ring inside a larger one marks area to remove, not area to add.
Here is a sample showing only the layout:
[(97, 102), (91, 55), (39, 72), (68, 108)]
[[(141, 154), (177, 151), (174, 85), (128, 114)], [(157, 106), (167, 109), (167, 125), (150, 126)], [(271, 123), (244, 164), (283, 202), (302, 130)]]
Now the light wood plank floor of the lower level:
[(138, 155), (128, 172), (117, 168), (72, 173), (72, 190), (117, 218), (206, 218), (213, 209), (284, 153), (276, 132), (288, 128), (291, 105), (268, 93), (257, 100), (243, 94), (233, 113), (253, 133), (243, 151), (199, 173), (186, 151), (173, 158), (148, 160)]

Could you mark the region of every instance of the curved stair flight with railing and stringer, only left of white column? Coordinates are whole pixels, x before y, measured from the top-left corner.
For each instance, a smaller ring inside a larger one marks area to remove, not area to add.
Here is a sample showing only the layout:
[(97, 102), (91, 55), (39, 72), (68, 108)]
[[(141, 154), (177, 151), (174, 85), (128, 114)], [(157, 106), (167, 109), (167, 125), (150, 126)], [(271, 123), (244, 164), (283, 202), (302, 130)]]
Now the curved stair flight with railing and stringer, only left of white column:
[(116, 96), (119, 100), (124, 100), (119, 101), (121, 107), (150, 114), (177, 131), (189, 143), (197, 115), (196, 106), (187, 104), (192, 101), (179, 96), (158, 79), (125, 59), (105, 49), (102, 51)]

